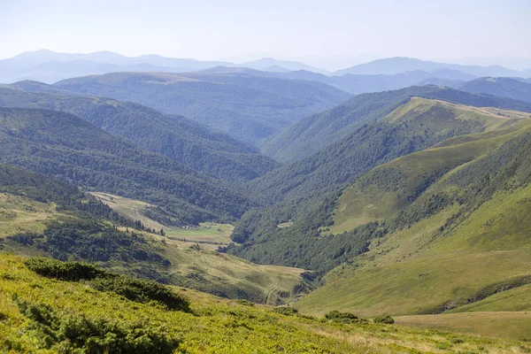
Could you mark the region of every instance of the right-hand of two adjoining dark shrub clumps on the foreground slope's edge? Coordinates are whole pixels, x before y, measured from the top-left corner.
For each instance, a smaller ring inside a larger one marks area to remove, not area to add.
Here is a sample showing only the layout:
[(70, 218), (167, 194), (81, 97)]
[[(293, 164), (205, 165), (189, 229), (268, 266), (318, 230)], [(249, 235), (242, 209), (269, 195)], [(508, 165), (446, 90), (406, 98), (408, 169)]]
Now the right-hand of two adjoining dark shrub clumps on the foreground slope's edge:
[(157, 281), (119, 275), (96, 278), (89, 284), (96, 290), (116, 293), (137, 303), (157, 301), (170, 310), (189, 311), (189, 301), (184, 296)]

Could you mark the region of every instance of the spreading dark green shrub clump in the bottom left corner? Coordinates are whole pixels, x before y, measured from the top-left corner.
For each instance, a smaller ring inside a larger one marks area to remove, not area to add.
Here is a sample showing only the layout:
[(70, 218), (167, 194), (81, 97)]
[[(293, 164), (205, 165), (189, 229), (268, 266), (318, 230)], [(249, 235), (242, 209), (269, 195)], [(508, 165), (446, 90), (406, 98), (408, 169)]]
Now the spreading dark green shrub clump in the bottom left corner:
[(172, 353), (180, 340), (147, 322), (88, 319), (83, 314), (59, 315), (47, 304), (13, 296), (28, 328), (43, 349), (69, 353)]

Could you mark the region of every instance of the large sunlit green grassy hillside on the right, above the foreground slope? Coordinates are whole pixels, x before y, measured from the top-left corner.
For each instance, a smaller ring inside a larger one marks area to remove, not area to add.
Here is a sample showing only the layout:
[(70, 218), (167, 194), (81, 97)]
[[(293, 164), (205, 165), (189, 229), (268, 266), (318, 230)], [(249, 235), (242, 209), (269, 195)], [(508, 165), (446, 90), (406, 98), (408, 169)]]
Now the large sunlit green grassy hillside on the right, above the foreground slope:
[[(331, 227), (335, 232), (373, 220), (411, 217), (415, 211), (425, 214), (410, 227), (374, 239), (364, 255), (327, 274), (327, 284), (296, 307), (315, 314), (334, 309), (366, 316), (527, 310), (526, 296), (531, 295), (526, 285), (531, 282), (529, 123), (528, 119), (510, 120), (485, 133), (450, 139), (397, 158), (346, 189)], [(434, 196), (451, 202), (433, 212), (419, 209)], [(504, 321), (509, 318), (505, 316)], [(519, 320), (527, 325), (518, 335), (528, 338), (531, 327), (524, 318)], [(455, 316), (419, 321), (435, 323), (436, 319), (441, 319), (441, 326), (466, 329)], [(483, 331), (486, 326), (479, 322), (477, 328), (487, 335), (496, 331)]]

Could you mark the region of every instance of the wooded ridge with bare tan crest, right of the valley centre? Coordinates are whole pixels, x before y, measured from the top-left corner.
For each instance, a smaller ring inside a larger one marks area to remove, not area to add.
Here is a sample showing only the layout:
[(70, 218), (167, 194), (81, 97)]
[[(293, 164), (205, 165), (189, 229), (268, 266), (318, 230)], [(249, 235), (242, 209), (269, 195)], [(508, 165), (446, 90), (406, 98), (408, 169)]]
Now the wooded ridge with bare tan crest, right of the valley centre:
[[(499, 113), (499, 114), (498, 114)], [(341, 186), (390, 159), (427, 149), (452, 136), (491, 129), (506, 121), (503, 114), (527, 113), (483, 109), (413, 97), (381, 119), (304, 158), (250, 181), (250, 188), (273, 200), (296, 199)]]

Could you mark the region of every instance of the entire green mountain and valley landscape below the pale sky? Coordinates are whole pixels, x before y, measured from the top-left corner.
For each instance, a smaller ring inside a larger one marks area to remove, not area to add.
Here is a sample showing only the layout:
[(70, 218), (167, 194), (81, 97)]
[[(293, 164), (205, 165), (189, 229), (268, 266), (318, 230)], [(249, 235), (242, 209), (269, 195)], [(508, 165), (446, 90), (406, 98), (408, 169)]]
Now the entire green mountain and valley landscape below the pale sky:
[(0, 352), (531, 352), (531, 59), (369, 57), (0, 58)]

